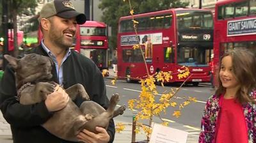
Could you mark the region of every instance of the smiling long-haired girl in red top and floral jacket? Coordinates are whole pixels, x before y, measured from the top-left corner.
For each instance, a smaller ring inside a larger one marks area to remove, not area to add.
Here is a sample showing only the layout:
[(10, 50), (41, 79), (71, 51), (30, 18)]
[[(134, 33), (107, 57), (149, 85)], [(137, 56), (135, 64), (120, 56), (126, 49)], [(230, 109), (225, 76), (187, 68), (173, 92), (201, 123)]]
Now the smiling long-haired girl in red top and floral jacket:
[(207, 100), (198, 142), (256, 142), (256, 60), (247, 49), (221, 57), (218, 89)]

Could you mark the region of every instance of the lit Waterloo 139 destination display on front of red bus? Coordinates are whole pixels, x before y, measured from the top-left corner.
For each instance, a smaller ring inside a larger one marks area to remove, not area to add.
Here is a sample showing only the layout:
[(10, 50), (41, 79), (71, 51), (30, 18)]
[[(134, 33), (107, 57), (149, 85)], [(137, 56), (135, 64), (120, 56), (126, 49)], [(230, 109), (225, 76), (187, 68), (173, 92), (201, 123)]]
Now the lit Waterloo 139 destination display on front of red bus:
[(212, 41), (211, 34), (191, 34), (181, 33), (179, 36), (180, 41)]

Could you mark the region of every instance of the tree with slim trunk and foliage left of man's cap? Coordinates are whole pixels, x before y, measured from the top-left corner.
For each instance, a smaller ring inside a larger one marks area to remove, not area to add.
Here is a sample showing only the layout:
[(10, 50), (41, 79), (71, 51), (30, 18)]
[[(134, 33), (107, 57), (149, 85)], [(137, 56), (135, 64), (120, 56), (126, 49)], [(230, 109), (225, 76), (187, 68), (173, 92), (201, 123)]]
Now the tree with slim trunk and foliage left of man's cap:
[(13, 56), (19, 54), (19, 47), (17, 44), (17, 15), (26, 15), (35, 14), (35, 8), (37, 6), (37, 0), (12, 0), (10, 1), (10, 13), (12, 13), (13, 21), (13, 42), (14, 42), (14, 51)]

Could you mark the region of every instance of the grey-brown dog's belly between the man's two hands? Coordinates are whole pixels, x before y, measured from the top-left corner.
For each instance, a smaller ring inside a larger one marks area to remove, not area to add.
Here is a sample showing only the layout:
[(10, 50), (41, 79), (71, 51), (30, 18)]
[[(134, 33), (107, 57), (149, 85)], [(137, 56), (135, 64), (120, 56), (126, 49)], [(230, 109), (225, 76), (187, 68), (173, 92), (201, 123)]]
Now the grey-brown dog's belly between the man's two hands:
[(76, 135), (86, 122), (82, 112), (70, 100), (64, 109), (54, 112), (53, 116), (42, 126), (61, 139), (78, 142)]

